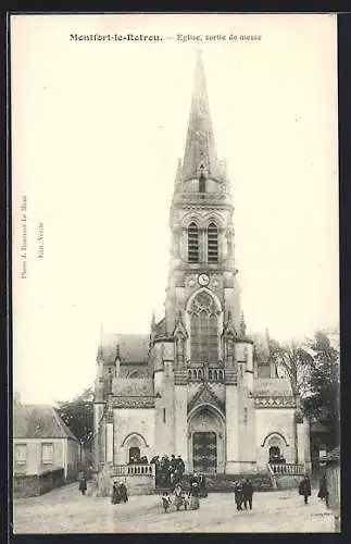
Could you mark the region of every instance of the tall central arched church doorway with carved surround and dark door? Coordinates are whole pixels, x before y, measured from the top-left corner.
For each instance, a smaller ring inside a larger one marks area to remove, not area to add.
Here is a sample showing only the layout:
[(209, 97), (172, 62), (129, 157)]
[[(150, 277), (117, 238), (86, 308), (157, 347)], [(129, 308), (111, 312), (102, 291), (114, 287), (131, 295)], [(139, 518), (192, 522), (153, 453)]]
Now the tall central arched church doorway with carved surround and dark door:
[(224, 471), (224, 424), (210, 405), (197, 408), (189, 417), (188, 459), (190, 469), (202, 473)]

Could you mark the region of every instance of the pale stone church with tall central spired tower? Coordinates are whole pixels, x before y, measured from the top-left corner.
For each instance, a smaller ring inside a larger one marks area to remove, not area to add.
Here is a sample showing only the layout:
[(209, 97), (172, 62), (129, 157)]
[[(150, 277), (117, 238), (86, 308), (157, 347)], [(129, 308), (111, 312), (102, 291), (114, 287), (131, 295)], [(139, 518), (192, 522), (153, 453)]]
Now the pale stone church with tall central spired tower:
[(233, 214), (199, 53), (170, 210), (164, 316), (145, 335), (101, 334), (96, 469), (172, 454), (202, 473), (255, 473), (273, 458), (309, 467), (309, 424), (289, 379), (269, 358), (267, 334), (247, 333)]

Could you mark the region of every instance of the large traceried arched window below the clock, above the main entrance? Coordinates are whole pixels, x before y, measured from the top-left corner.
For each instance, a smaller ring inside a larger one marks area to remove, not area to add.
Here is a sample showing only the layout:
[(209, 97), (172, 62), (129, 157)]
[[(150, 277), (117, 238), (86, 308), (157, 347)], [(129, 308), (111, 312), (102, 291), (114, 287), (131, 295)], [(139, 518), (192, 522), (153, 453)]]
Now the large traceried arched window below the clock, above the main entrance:
[(189, 311), (191, 360), (217, 362), (218, 318), (213, 298), (208, 293), (199, 293)]

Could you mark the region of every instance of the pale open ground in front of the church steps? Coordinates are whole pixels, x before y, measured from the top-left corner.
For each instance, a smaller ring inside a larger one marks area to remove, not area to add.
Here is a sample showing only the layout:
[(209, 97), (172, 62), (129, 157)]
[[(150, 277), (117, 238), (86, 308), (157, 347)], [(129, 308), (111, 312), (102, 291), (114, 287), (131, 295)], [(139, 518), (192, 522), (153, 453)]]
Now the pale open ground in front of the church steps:
[(14, 533), (280, 533), (334, 532), (334, 517), (313, 491), (304, 505), (297, 491), (255, 493), (252, 511), (237, 511), (231, 493), (213, 493), (199, 510), (164, 514), (160, 495), (82, 496), (77, 484), (13, 502)]

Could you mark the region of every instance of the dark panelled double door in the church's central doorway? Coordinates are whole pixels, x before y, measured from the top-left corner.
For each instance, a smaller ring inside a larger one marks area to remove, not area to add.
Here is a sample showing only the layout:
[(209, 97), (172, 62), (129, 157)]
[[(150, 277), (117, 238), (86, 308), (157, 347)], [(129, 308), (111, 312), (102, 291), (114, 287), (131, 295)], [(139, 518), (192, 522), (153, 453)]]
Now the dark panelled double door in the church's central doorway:
[(192, 466), (196, 472), (216, 472), (217, 435), (214, 432), (195, 432), (192, 435)]

